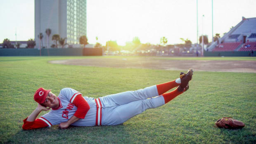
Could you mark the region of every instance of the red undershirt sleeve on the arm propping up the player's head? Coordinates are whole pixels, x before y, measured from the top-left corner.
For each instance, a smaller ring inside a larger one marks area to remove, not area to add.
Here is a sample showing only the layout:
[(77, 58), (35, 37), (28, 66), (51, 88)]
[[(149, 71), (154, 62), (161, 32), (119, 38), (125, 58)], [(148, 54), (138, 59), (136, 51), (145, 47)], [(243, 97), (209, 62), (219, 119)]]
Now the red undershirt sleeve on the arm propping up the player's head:
[(27, 121), (27, 119), (28, 117), (23, 120), (23, 130), (33, 130), (49, 126), (47, 123), (45, 123), (43, 120), (40, 120), (39, 118), (37, 118), (35, 121)]

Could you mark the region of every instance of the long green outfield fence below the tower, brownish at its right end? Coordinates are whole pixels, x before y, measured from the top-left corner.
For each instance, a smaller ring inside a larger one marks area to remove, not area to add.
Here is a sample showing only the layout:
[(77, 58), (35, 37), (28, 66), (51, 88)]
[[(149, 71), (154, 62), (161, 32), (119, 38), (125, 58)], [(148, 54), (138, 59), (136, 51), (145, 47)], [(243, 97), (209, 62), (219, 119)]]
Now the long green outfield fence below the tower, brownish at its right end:
[[(41, 49), (41, 56), (101, 56), (102, 48)], [(40, 50), (28, 48), (0, 48), (0, 56), (40, 56)]]

